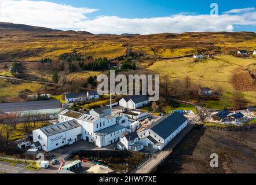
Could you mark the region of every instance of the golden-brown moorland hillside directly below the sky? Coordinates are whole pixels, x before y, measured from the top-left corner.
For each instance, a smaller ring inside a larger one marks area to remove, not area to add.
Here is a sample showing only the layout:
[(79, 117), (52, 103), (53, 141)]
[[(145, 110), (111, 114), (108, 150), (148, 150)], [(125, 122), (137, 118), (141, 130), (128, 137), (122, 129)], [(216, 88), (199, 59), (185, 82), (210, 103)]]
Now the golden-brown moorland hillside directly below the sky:
[(171, 58), (207, 51), (225, 53), (231, 49), (256, 49), (254, 32), (189, 32), (153, 35), (93, 35), (84, 31), (58, 31), (29, 25), (0, 23), (0, 61), (35, 61), (60, 54), (83, 56), (125, 56), (140, 51), (146, 58)]

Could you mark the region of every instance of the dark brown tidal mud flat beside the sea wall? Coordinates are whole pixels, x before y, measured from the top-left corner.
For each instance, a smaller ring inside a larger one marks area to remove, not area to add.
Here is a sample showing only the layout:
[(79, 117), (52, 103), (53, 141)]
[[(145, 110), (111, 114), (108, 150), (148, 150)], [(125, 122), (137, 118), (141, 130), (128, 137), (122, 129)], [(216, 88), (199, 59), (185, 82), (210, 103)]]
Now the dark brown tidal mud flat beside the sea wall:
[[(211, 168), (211, 154), (218, 168)], [(194, 128), (156, 173), (256, 173), (256, 131)]]

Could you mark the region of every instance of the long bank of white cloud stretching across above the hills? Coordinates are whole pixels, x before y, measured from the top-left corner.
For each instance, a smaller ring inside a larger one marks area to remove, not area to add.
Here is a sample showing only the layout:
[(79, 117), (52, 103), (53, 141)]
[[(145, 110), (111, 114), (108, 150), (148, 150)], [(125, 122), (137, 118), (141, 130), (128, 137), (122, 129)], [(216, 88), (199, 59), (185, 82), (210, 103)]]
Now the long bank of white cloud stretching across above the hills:
[[(230, 10), (222, 15), (175, 14), (169, 17), (87, 18), (97, 11), (46, 1), (0, 0), (0, 21), (38, 25), (55, 29), (90, 31), (94, 34), (155, 34), (161, 32), (234, 31), (235, 27), (256, 27), (254, 8)], [(250, 31), (250, 30), (249, 30)]]

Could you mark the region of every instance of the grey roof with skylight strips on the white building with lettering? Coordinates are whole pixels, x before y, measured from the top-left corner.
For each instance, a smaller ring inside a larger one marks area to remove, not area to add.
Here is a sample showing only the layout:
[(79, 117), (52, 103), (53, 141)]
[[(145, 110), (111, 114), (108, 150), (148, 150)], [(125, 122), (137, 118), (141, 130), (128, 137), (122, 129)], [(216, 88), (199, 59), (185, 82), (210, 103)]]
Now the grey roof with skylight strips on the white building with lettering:
[(52, 135), (56, 135), (61, 132), (69, 131), (71, 129), (78, 128), (78, 127), (81, 127), (81, 125), (78, 124), (75, 120), (71, 120), (71, 121), (66, 121), (64, 123), (50, 125), (48, 127), (44, 127), (40, 129), (46, 136), (52, 136)]

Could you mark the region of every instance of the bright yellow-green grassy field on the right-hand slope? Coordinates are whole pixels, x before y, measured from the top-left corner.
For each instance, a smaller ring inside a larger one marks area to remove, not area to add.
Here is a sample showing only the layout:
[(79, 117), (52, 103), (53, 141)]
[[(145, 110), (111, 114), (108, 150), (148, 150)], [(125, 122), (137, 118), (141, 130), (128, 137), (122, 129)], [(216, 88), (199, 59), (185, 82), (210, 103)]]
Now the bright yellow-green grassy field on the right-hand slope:
[[(237, 87), (232, 82), (233, 72), (237, 68), (246, 69), (248, 65), (256, 62), (255, 58), (237, 58), (233, 56), (216, 56), (202, 62), (195, 62), (191, 58), (180, 58), (155, 62), (149, 70), (160, 75), (168, 75), (171, 80), (184, 79), (189, 76), (193, 82), (202, 86), (216, 88), (222, 87), (225, 92), (236, 92)], [(244, 84), (236, 84), (244, 86)], [(253, 105), (256, 103), (256, 92), (242, 91), (244, 97)], [(209, 102), (210, 103), (210, 102)]]

